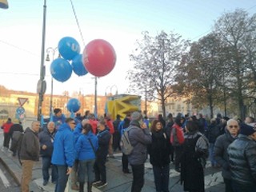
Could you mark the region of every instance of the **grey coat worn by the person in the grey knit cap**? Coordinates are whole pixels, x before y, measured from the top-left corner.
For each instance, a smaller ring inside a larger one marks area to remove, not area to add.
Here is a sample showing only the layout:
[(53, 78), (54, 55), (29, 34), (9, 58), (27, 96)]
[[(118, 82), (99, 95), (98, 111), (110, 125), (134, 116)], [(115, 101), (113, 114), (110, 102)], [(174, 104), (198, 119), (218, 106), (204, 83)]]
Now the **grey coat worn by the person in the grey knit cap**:
[(130, 165), (142, 165), (146, 162), (147, 145), (151, 143), (149, 129), (142, 129), (137, 121), (130, 122), (133, 128), (129, 131), (129, 139), (134, 150), (128, 155)]

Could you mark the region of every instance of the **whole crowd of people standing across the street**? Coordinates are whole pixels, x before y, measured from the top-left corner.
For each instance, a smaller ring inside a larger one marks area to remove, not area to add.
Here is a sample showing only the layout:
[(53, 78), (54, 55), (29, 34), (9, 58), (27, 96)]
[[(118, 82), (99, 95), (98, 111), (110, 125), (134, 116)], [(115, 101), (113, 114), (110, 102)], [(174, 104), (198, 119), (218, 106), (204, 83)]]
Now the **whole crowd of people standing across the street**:
[[(10, 139), (15, 132), (22, 132), (21, 127), (20, 122), (13, 124), (8, 118), (2, 125), (3, 147), (10, 147)], [(168, 114), (167, 119), (159, 114), (150, 121), (138, 111), (126, 114), (124, 119), (119, 114), (116, 119), (110, 114), (96, 118), (86, 111), (83, 117), (76, 114), (75, 118), (66, 118), (62, 110), (55, 109), (53, 121), (44, 130), (40, 122), (32, 122), (24, 131), (18, 153), (17, 149), (13, 152), (22, 163), (22, 192), (29, 191), (34, 162), (40, 156), (43, 185), (53, 182), (55, 192), (65, 190), (69, 176), (72, 190), (83, 192), (85, 183), (89, 192), (92, 186), (106, 186), (107, 158), (115, 158), (114, 152), (121, 151), (119, 142), (126, 130), (133, 150), (122, 153), (122, 171), (133, 175), (132, 192), (144, 186), (147, 158), (153, 167), (156, 191), (170, 191), (173, 162), (183, 190), (203, 192), (208, 157), (212, 167), (222, 168), (226, 192), (256, 191), (256, 129), (252, 117), (242, 121), (217, 114), (207, 121), (202, 114), (178, 114), (175, 118)]]

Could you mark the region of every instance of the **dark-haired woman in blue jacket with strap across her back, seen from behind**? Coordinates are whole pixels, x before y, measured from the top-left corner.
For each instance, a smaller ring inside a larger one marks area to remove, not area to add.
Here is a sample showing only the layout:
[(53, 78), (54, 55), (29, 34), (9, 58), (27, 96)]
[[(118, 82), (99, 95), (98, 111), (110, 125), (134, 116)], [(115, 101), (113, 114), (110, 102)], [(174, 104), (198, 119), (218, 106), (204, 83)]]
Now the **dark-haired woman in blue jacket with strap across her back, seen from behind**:
[(92, 132), (90, 123), (82, 126), (82, 134), (75, 144), (75, 150), (78, 155), (79, 170), (79, 192), (84, 191), (85, 179), (87, 174), (87, 191), (91, 192), (92, 182), (94, 181), (94, 162), (95, 152), (98, 150), (98, 138)]

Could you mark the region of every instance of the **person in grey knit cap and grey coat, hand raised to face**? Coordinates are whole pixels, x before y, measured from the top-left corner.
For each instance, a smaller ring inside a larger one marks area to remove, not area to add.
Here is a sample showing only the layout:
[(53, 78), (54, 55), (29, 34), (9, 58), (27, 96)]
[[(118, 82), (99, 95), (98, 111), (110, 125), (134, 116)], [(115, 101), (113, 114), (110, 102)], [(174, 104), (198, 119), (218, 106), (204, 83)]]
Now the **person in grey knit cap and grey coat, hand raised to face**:
[(150, 130), (143, 122), (142, 114), (131, 114), (131, 129), (129, 139), (134, 150), (128, 155), (128, 161), (133, 170), (132, 192), (141, 191), (144, 186), (144, 163), (146, 162), (146, 147), (151, 143)]

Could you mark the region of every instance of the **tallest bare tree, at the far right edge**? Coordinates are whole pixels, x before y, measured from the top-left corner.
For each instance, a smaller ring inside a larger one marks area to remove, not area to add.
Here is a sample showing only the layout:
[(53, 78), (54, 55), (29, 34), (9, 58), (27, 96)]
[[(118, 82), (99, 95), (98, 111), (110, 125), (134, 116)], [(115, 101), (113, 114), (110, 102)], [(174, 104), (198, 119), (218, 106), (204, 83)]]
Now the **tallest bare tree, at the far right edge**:
[[(214, 26), (214, 32), (230, 48), (229, 87), (234, 99), (238, 102), (240, 118), (245, 118), (246, 115), (245, 99), (250, 84), (248, 77), (250, 74), (256, 75), (254, 72), (255, 62), (250, 60), (255, 59), (252, 54), (253, 52), (255, 54), (255, 49), (251, 49), (251, 42), (255, 41), (255, 31), (255, 14), (250, 17), (244, 10), (223, 14)], [(250, 39), (250, 43), (248, 39)], [(249, 55), (250, 57), (248, 57)]]

